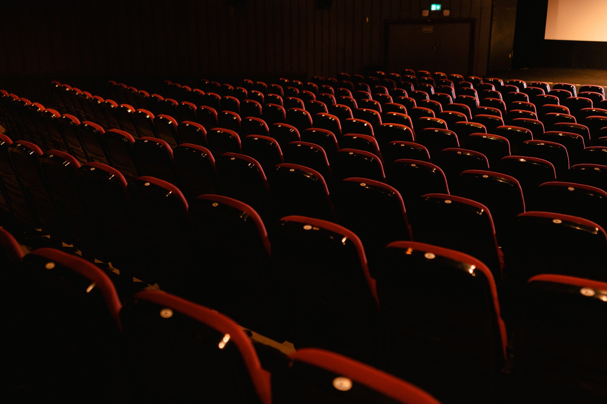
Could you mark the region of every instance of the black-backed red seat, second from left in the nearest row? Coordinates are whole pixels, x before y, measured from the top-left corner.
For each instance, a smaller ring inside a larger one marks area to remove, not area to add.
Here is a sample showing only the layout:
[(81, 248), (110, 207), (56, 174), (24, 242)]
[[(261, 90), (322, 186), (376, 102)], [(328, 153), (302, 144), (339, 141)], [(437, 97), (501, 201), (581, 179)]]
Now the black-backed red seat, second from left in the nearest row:
[[(38, 248), (24, 257), (15, 282), (21, 318), (13, 325), (20, 336), (13, 349), (28, 388), (69, 402), (90, 391), (100, 403), (126, 396), (121, 303), (110, 278), (81, 257)], [(39, 329), (48, 330), (44, 338)]]

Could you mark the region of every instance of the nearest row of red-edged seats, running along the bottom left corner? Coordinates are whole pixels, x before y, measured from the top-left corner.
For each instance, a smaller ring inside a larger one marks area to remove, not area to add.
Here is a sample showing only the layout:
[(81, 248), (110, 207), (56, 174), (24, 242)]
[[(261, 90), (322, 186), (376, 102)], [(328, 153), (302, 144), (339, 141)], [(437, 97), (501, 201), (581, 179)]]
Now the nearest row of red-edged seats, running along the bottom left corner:
[[(100, 268), (52, 248), (23, 256), (2, 229), (0, 250), (3, 268), (15, 271), (4, 277), (15, 288), (13, 307), (24, 316), (10, 317), (16, 353), (5, 364), (35, 363), (22, 377), (32, 390), (45, 386), (45, 397), (71, 401), (96, 391), (90, 402), (270, 404), (334, 397), (358, 402), (364, 394), (384, 402), (438, 403), (410, 383), (321, 349), (298, 349), (270, 374), (249, 336), (223, 314), (159, 291), (137, 293), (123, 305)], [(38, 339), (36, 329), (56, 332)], [(98, 353), (94, 361), (87, 360), (91, 351)]]

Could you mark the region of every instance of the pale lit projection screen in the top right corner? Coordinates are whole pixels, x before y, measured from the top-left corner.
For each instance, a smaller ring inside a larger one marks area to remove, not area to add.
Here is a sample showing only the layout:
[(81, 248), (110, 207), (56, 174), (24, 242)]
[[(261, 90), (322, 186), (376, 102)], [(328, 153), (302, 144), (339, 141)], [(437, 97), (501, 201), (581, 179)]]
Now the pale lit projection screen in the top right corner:
[(544, 39), (607, 42), (607, 0), (548, 0)]

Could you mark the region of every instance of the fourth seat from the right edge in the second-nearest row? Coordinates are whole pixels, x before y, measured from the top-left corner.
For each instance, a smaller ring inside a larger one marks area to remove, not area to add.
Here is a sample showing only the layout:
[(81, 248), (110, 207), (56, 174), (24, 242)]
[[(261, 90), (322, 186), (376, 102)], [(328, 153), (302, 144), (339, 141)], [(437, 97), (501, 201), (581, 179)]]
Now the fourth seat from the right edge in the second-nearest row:
[(282, 342), (276, 270), (259, 214), (239, 200), (214, 194), (197, 197), (189, 211), (205, 257), (205, 270), (195, 278), (200, 282), (196, 301)]

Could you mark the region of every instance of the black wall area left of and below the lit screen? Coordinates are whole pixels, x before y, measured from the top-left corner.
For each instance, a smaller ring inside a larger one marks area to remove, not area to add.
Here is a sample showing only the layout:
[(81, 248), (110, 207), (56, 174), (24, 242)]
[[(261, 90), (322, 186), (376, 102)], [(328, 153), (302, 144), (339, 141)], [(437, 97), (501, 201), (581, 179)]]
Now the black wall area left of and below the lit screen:
[(547, 41), (548, 0), (520, 1), (514, 37), (514, 68), (599, 68), (607, 65), (607, 42)]

